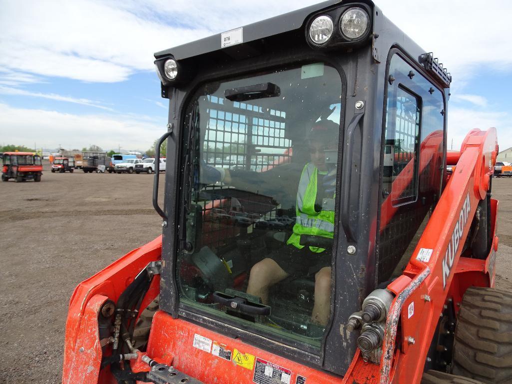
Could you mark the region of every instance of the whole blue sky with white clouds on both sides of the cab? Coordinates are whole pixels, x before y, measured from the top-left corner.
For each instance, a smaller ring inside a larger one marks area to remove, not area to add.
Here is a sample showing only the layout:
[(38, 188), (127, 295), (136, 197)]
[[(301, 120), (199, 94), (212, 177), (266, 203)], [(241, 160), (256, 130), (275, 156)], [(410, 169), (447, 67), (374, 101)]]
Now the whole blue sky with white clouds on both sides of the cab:
[[(0, 0), (0, 144), (146, 150), (167, 121), (153, 53), (315, 2), (276, 3)], [(449, 147), (489, 126), (512, 146), (512, 5), (376, 4), (451, 71)]]

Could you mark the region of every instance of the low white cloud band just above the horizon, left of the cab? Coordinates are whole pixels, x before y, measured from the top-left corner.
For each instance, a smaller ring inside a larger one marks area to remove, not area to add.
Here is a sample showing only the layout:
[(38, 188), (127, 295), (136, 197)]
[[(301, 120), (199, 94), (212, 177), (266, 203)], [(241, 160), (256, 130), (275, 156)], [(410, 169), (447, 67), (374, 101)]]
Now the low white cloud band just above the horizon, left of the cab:
[(102, 148), (146, 150), (165, 133), (165, 123), (141, 116), (74, 115), (56, 111), (13, 108), (0, 103), (4, 144), (25, 144), (53, 148), (82, 148), (90, 144)]

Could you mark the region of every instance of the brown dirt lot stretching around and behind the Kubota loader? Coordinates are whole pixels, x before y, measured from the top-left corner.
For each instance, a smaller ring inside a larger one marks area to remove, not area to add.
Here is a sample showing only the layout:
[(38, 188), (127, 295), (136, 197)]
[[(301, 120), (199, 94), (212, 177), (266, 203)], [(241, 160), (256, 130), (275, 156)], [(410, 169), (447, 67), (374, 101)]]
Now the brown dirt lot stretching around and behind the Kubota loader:
[[(497, 287), (512, 289), (512, 179), (500, 200)], [(153, 176), (52, 174), (0, 183), (0, 383), (58, 383), (75, 286), (156, 238)], [(161, 199), (162, 200), (162, 199)]]

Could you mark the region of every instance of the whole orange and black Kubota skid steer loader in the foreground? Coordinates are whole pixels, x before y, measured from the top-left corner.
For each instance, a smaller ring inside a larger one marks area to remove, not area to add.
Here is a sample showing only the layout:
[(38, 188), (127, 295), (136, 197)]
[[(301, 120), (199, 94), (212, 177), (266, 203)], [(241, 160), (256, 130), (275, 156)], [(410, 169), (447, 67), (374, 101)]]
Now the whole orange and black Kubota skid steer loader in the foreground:
[[(76, 288), (64, 384), (512, 382), (512, 294), (493, 288), (496, 130), (446, 152), (452, 77), (430, 50), (370, 1), (330, 1), (155, 58), (162, 236)], [(296, 233), (306, 195), (334, 218), (311, 223), (321, 234)], [(261, 219), (212, 220), (219, 209)], [(258, 225), (280, 217), (293, 233)], [(255, 266), (291, 246), (327, 266), (247, 293)], [(312, 317), (317, 285), (326, 321)]]

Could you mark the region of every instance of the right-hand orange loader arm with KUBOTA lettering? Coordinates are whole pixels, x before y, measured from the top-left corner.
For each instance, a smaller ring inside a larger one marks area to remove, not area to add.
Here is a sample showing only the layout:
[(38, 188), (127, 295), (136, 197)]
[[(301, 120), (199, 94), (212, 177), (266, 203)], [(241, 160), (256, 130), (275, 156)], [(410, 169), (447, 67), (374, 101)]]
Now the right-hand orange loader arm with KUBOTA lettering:
[[(380, 384), (419, 383), (444, 306), (453, 305), (457, 313), (465, 289), (472, 284), (494, 285), (496, 201), (492, 201), (489, 212), (493, 241), (487, 258), (475, 259), (468, 250), (461, 257), (461, 252), (477, 206), (489, 190), (497, 152), (496, 130), (475, 129), (466, 136), (460, 152), (447, 156), (448, 165), (456, 165), (456, 171), (403, 275), (388, 286), (396, 297), (387, 318)], [(467, 282), (462, 276), (470, 271), (474, 273), (473, 281)]]

